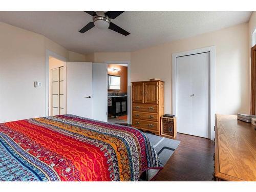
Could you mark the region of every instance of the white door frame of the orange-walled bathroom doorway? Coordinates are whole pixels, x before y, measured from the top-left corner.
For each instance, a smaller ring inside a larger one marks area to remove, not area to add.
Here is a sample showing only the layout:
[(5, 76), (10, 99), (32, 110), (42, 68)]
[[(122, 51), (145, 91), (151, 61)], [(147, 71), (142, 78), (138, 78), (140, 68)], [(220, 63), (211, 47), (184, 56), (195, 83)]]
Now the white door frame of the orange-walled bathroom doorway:
[(104, 61), (109, 64), (127, 64), (127, 124), (131, 124), (131, 61)]

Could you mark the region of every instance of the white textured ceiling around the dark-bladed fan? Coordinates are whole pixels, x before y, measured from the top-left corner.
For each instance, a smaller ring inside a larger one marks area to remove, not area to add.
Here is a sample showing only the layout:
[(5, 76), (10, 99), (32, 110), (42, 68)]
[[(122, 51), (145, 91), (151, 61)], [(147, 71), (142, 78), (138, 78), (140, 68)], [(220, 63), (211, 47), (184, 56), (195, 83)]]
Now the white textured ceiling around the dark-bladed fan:
[(78, 31), (92, 21), (83, 11), (1, 11), (0, 21), (42, 34), (78, 53), (134, 51), (248, 22), (250, 11), (125, 11), (112, 30)]

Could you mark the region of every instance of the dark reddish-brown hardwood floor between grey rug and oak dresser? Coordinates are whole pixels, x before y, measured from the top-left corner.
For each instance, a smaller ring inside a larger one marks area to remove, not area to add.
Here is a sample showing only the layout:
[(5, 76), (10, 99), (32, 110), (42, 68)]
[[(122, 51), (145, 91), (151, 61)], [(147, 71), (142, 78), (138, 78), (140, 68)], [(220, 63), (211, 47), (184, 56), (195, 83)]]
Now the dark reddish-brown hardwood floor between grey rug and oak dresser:
[(180, 144), (155, 181), (212, 181), (214, 142), (179, 133), (176, 139)]

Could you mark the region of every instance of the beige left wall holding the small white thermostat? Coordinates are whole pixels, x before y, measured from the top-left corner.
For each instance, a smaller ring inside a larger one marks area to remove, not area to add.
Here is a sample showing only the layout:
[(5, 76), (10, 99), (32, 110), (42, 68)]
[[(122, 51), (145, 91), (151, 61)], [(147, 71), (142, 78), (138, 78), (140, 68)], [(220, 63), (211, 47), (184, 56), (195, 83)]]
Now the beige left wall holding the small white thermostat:
[(0, 122), (45, 116), (47, 49), (67, 60), (81, 58), (45, 36), (0, 22)]

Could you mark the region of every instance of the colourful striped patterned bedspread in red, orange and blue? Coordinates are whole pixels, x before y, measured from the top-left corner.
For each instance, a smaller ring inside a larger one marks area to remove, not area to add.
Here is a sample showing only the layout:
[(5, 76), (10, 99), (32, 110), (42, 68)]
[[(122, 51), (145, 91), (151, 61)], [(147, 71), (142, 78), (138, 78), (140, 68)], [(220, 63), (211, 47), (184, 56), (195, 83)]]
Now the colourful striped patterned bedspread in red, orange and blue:
[(138, 181), (161, 169), (140, 131), (74, 115), (0, 123), (0, 181)]

